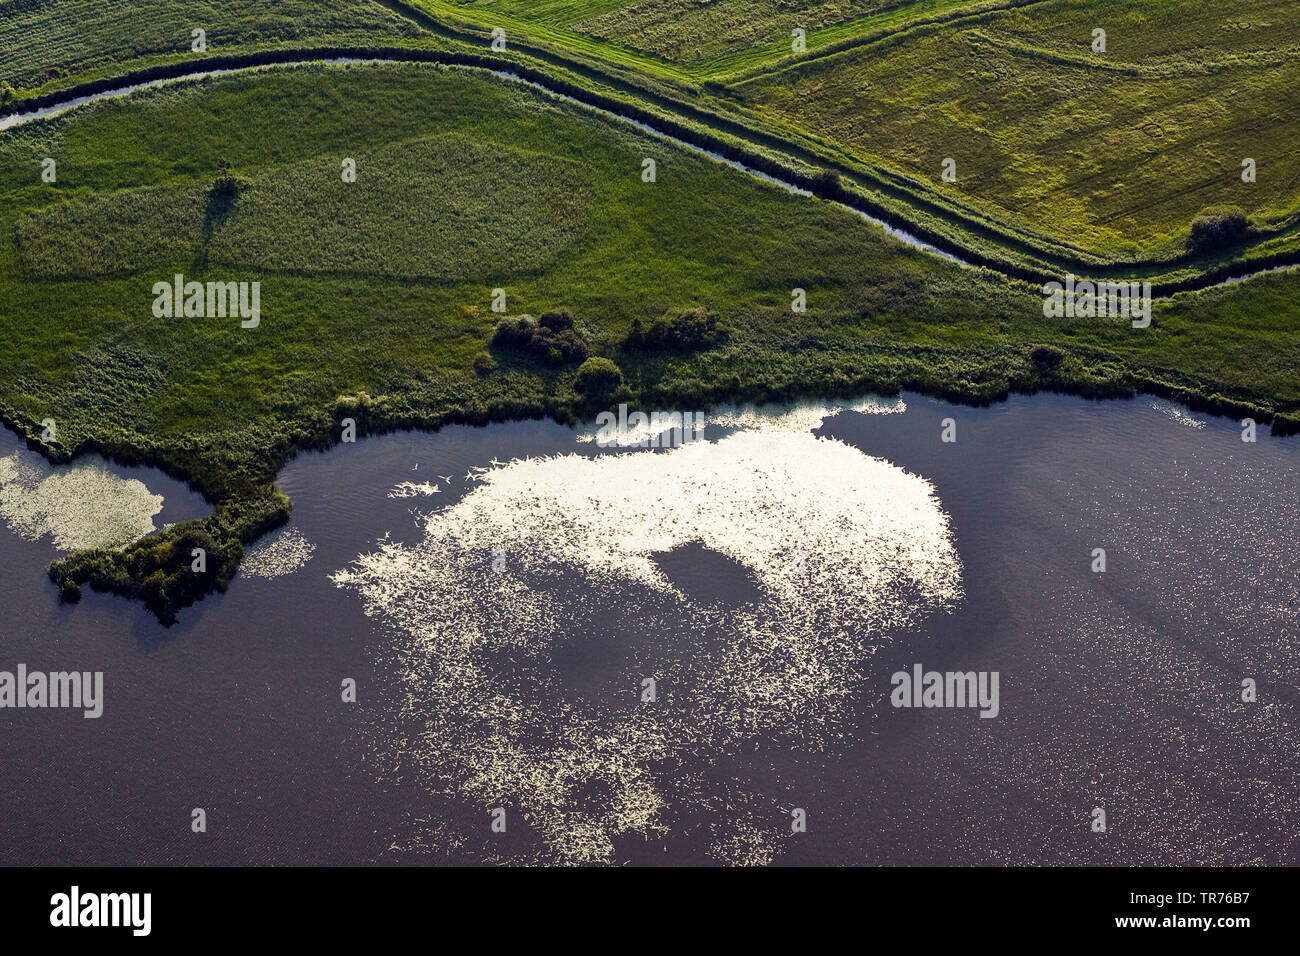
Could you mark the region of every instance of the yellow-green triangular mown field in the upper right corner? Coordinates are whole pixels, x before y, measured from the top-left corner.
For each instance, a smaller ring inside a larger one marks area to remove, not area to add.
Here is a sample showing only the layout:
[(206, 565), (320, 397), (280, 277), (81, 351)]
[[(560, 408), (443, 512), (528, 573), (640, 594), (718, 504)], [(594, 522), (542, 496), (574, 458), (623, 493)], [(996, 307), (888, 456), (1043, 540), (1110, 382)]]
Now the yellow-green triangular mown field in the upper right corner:
[[(1054, 0), (737, 90), (754, 109), (1032, 229), (1167, 256), (1204, 207), (1240, 206), (1262, 228), (1300, 209), (1300, 17), (1288, 7)], [(1106, 53), (1089, 48), (1098, 26)], [(953, 183), (941, 181), (946, 157)], [(1242, 181), (1245, 157), (1253, 183)]]

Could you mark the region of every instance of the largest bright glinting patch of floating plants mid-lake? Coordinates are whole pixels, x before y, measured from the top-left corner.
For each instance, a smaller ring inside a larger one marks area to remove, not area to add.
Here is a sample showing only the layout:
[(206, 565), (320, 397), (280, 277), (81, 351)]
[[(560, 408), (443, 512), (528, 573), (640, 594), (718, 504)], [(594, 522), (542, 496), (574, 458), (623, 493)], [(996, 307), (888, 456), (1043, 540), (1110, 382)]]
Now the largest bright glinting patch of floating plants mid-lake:
[[(415, 731), (376, 728), (377, 750), (430, 790), (523, 813), (546, 858), (607, 862), (620, 836), (707, 813), (699, 778), (670, 767), (841, 732), (871, 653), (952, 606), (961, 567), (931, 485), (812, 436), (826, 414), (510, 462), (428, 515), (420, 542), (335, 572), (396, 636), (385, 665)], [(655, 555), (690, 542), (745, 566), (762, 600), (679, 591)], [(772, 857), (775, 835), (733, 826), (720, 856)]]

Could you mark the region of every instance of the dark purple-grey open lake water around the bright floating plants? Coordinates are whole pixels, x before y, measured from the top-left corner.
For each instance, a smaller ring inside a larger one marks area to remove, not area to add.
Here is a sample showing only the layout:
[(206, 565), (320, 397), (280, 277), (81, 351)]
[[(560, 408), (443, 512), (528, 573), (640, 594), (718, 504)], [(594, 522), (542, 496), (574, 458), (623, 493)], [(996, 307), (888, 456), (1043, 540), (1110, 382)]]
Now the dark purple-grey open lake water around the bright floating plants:
[[(818, 434), (933, 485), (963, 596), (857, 662), (854, 692), (815, 735), (712, 741), (646, 767), (662, 792), (703, 796), (663, 808), (666, 831), (615, 834), (614, 858), (1300, 864), (1300, 442), (1264, 432), (1244, 444), (1234, 421), (1147, 398), (1018, 397), (983, 410), (905, 401), (902, 414), (840, 412)], [(945, 418), (956, 444), (939, 440)], [(17, 447), (3, 436), (0, 457)], [(172, 628), (108, 596), (58, 605), (44, 574), (57, 553), (0, 527), (0, 670), (105, 675), (100, 719), (0, 710), (0, 860), (551, 858), (547, 834), (521, 814), (507, 834), (490, 831), (490, 809), (512, 808), (511, 793), (458, 796), (403, 758), (438, 706), (394, 672), (408, 628), (367, 617), (359, 593), (329, 575), (385, 536), (416, 546), (417, 515), (460, 501), (471, 468), (568, 453), (612, 454), (529, 421), (302, 455), (280, 486), (311, 559), (278, 578), (240, 575)], [(157, 472), (114, 471), (165, 497), (156, 520), (203, 510)], [(441, 492), (389, 497), (403, 481)], [(1091, 571), (1096, 548), (1105, 574)], [(750, 570), (699, 544), (654, 563), (693, 600), (762, 600)], [(569, 597), (594, 610), (546, 665), (566, 695), (597, 698), (642, 650), (629, 637), (642, 609), (594, 591)], [(675, 646), (666, 639), (660, 650)], [(889, 675), (918, 662), (997, 671), (1001, 713), (893, 709)], [(516, 666), (503, 652), (502, 667)], [(341, 701), (344, 678), (358, 683), (356, 705)], [(1257, 702), (1240, 700), (1247, 678)], [(529, 701), (533, 713), (563, 706)], [(606, 800), (578, 793), (567, 805), (582, 797), (593, 813)], [(191, 832), (194, 808), (207, 832)], [(806, 810), (807, 832), (790, 834), (792, 808)], [(1106, 812), (1105, 834), (1089, 827), (1093, 808)], [(741, 852), (746, 843), (762, 852)]]

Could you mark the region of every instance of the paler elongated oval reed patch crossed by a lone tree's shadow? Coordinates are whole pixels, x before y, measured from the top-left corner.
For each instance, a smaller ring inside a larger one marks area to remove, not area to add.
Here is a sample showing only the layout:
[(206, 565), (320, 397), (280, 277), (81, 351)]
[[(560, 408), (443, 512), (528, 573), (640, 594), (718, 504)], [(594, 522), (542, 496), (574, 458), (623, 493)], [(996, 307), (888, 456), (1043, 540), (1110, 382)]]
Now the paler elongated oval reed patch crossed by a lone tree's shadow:
[(586, 232), (576, 163), (459, 135), (354, 153), (355, 183), (334, 160), (259, 170), (217, 229), (202, 185), (47, 207), (17, 224), (23, 271), (86, 278), (192, 255), (263, 272), (489, 281), (545, 267)]

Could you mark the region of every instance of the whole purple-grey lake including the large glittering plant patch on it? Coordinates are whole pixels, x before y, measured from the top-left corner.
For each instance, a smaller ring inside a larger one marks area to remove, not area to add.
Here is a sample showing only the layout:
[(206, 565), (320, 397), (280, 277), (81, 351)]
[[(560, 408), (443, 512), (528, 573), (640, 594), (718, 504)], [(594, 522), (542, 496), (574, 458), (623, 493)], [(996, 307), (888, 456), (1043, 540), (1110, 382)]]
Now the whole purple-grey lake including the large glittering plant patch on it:
[[(60, 605), (56, 540), (5, 520), (0, 670), (101, 670), (105, 701), (0, 711), (0, 853), (1300, 862), (1300, 441), (1150, 398), (915, 394), (590, 437), (300, 455), (289, 528), (173, 628)], [(107, 472), (162, 497), (156, 527), (203, 511)], [(916, 663), (997, 671), (997, 717), (892, 706)]]

